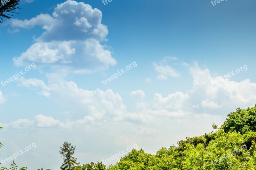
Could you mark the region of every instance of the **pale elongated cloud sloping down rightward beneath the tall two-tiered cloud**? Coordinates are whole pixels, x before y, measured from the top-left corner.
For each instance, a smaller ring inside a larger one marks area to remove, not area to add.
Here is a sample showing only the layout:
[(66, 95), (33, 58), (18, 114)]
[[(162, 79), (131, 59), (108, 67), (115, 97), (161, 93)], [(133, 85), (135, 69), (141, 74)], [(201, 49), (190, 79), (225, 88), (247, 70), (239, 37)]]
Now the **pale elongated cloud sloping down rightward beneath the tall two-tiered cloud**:
[[(100, 120), (102, 117), (109, 117), (111, 120), (122, 119), (126, 106), (122, 103), (122, 98), (118, 93), (114, 93), (111, 89), (102, 91), (96, 89), (94, 91), (78, 88), (76, 83), (67, 82), (56, 77), (48, 78), (49, 85), (45, 85), (42, 80), (20, 78), (20, 86), (28, 88), (42, 89), (42, 95), (49, 97), (52, 93), (61, 100), (70, 102), (76, 101), (84, 112), (93, 118)], [(55, 75), (58, 77), (58, 75)]]

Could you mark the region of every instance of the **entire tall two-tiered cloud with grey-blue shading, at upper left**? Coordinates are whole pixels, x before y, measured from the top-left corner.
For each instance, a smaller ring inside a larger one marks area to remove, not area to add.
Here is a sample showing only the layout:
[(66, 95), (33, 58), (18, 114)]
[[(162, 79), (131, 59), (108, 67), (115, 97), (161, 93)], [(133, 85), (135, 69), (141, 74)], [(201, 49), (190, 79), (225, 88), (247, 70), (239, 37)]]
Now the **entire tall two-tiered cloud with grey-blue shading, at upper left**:
[(101, 24), (102, 13), (89, 4), (67, 0), (58, 4), (52, 16), (40, 14), (31, 19), (12, 19), (12, 27), (45, 30), (26, 52), (14, 57), (14, 64), (62, 67), (73, 73), (92, 73), (116, 64), (112, 53), (100, 42), (106, 40), (107, 26)]

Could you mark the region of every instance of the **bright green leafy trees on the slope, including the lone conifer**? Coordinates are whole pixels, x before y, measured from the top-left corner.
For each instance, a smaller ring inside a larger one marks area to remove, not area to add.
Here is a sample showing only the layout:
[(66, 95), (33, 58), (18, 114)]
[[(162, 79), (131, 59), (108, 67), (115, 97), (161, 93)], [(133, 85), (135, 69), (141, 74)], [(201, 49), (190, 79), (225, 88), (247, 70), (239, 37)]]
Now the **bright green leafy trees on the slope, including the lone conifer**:
[[(178, 141), (178, 146), (161, 148), (155, 155), (145, 153), (142, 149), (133, 149), (115, 165), (106, 167), (102, 162), (76, 165), (75, 162), (70, 164), (68, 169), (254, 170), (256, 169), (255, 114), (256, 104), (252, 108), (237, 108), (235, 112), (228, 114), (227, 120), (220, 128), (213, 124), (214, 131), (199, 137), (187, 137)], [(69, 147), (73, 146), (69, 145)], [(74, 158), (71, 158), (74, 162)], [(63, 159), (64, 162), (68, 162), (68, 158)]]

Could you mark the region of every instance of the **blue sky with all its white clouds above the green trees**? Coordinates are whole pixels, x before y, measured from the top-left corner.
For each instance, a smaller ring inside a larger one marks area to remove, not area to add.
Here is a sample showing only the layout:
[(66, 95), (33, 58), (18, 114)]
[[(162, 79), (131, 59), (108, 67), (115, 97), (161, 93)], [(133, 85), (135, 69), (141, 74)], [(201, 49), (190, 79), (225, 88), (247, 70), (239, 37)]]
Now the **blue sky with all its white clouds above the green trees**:
[(256, 103), (256, 1), (104, 3), (21, 0), (0, 25), (4, 166), (59, 169), (65, 141), (115, 164)]

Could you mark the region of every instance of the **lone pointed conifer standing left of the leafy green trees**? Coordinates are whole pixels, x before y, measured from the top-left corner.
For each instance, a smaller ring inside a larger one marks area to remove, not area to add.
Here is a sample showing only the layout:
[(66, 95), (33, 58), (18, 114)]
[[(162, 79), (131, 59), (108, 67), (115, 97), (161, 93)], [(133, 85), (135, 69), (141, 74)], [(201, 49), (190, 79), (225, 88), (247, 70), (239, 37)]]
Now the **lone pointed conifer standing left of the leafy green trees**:
[(70, 170), (76, 165), (79, 165), (79, 163), (76, 162), (77, 159), (72, 157), (75, 153), (75, 149), (76, 146), (71, 145), (71, 143), (67, 141), (62, 144), (62, 147), (60, 146), (60, 154), (61, 157), (63, 157), (63, 164), (60, 166), (61, 170)]

